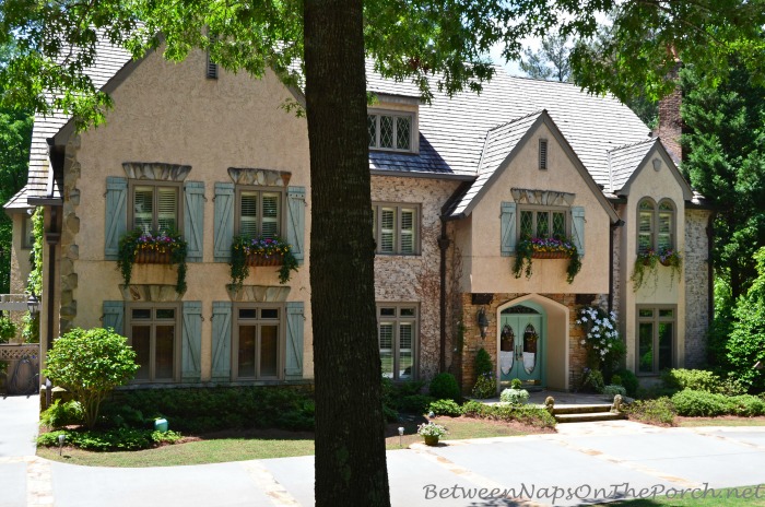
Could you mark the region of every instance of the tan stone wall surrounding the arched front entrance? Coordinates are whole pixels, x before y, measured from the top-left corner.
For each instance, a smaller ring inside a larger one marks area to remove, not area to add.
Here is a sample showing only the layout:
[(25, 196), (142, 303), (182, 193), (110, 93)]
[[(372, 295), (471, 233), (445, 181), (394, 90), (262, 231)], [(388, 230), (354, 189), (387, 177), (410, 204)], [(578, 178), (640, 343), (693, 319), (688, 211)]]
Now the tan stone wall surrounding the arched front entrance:
[[(507, 302), (517, 299), (526, 294), (494, 294), (490, 305), (473, 305), (471, 294), (462, 294), (462, 321), (464, 322), (464, 343), (462, 345), (462, 392), (470, 393), (475, 385), (475, 355), (483, 347), (492, 357), (492, 365), (496, 367), (497, 362), (497, 308)], [(568, 307), (568, 386), (575, 389), (581, 382), (582, 369), (587, 364), (587, 351), (581, 345), (584, 338), (582, 330), (576, 325), (578, 310), (586, 305), (577, 303), (576, 294), (540, 294)], [(599, 294), (595, 297), (593, 304), (605, 307), (607, 294)], [(482, 339), (478, 328), (478, 311), (480, 308), (486, 310), (489, 316), (489, 329), (486, 338)]]

